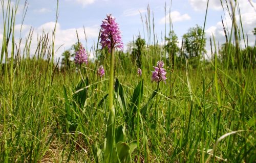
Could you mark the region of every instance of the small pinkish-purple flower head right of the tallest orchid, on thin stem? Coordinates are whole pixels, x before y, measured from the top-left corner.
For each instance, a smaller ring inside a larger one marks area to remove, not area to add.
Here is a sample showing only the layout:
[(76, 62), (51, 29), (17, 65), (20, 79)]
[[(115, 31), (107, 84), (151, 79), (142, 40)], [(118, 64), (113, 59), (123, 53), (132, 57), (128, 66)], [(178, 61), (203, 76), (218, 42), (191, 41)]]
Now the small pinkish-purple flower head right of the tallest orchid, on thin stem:
[(163, 68), (164, 63), (163, 61), (158, 61), (157, 62), (157, 67), (153, 66), (155, 71), (152, 71), (152, 77), (151, 77), (151, 81), (152, 82), (161, 82), (163, 81), (165, 83), (166, 78), (166, 71)]

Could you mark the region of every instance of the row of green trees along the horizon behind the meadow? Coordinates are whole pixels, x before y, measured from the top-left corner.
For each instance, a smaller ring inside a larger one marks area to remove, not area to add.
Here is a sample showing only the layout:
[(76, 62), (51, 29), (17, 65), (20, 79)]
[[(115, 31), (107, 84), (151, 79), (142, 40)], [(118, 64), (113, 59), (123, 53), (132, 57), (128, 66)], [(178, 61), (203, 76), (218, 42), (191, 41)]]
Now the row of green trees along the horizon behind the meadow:
[[(256, 37), (256, 28), (252, 31), (254, 36)], [(211, 43), (211, 39), (210, 39)], [(165, 45), (157, 46), (157, 45), (147, 45), (145, 39), (138, 36), (135, 41), (130, 42), (127, 47), (126, 55), (124, 52), (121, 51), (121, 59), (125, 57), (131, 58), (131, 61), (137, 66), (142, 66), (142, 57), (148, 54), (148, 50), (151, 49), (162, 49), (164, 55), (163, 57), (166, 60), (166, 63), (169, 67), (174, 69), (174, 67), (179, 68), (184, 66), (185, 60), (187, 60), (193, 68), (198, 66), (198, 61), (205, 57), (207, 54), (206, 51), (206, 37), (205, 33), (201, 26), (196, 25), (193, 28), (189, 28), (187, 33), (185, 33), (182, 37), (181, 47), (178, 46), (179, 41), (178, 37), (175, 32), (172, 30), (169, 32), (168, 36), (165, 37)], [(252, 67), (255, 68), (255, 61), (256, 61), (256, 39), (254, 46), (246, 46), (244, 49), (239, 48), (239, 53), (242, 60), (242, 65), (244, 68)], [(154, 46), (154, 47), (152, 47)], [(212, 47), (218, 46), (218, 47)], [(79, 43), (75, 43), (71, 46), (70, 49), (65, 50), (62, 53), (62, 60), (61, 60), (61, 68), (62, 69), (69, 69), (72, 67), (72, 61), (75, 56), (75, 51), (79, 49)], [(217, 50), (212, 50), (217, 49)], [(157, 50), (156, 50), (157, 51)], [(106, 54), (108, 50), (100, 49), (96, 51), (97, 53), (97, 60), (101, 64), (104, 65), (104, 60), (107, 59)], [(214, 53), (218, 53), (216, 55), (218, 57), (218, 61), (221, 63), (228, 63), (228, 67), (237, 67), (237, 58), (236, 55), (236, 46), (233, 43), (229, 43), (227, 40), (225, 43), (221, 45), (212, 45), (211, 43), (211, 58), (208, 58), (207, 62), (210, 59), (214, 59)], [(154, 58), (154, 55), (151, 57)], [(120, 59), (120, 58), (119, 58)], [(229, 60), (227, 62), (227, 60)], [(74, 66), (74, 64), (73, 64)]]

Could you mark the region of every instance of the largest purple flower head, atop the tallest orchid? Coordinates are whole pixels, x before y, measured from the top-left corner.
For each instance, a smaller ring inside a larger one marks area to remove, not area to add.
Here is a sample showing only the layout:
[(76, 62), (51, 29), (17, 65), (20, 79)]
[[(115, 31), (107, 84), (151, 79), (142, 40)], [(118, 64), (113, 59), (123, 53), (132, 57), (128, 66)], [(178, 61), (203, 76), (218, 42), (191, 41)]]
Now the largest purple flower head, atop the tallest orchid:
[(100, 33), (100, 44), (102, 48), (108, 47), (109, 51), (111, 48), (123, 49), (121, 32), (119, 30), (118, 23), (111, 14), (106, 15), (106, 18), (102, 20)]

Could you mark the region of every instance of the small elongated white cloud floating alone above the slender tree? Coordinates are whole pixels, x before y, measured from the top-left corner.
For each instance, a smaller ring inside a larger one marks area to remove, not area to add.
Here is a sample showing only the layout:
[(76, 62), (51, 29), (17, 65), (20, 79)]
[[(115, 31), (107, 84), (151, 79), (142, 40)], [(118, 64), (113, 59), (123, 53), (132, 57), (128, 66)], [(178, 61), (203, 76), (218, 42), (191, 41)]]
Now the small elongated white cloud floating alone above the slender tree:
[(169, 23), (170, 17), (172, 18), (172, 22), (184, 21), (184, 20), (191, 19), (191, 17), (188, 14), (181, 15), (178, 11), (173, 11), (170, 14), (165, 15), (165, 17), (161, 18), (159, 23), (164, 24), (165, 21), (166, 21), (166, 23)]

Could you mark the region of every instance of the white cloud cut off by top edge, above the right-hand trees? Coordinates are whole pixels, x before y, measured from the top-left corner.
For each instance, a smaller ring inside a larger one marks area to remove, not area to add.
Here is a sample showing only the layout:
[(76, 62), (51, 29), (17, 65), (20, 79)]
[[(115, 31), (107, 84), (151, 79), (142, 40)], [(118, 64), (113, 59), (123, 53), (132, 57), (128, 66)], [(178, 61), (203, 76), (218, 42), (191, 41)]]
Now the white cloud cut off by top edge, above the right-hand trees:
[[(189, 3), (196, 11), (205, 11), (207, 7), (207, 0), (189, 0)], [(221, 10), (221, 1), (209, 0), (208, 8), (214, 10)]]

